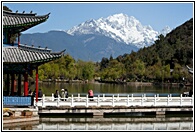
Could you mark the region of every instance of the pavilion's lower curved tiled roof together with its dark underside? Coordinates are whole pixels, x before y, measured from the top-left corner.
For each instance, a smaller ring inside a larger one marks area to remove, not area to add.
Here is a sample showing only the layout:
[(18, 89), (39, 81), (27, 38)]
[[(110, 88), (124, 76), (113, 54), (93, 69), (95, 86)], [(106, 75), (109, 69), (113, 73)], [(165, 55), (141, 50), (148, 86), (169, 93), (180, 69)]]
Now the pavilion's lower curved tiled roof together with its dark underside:
[(35, 48), (20, 44), (19, 47), (3, 47), (3, 71), (5, 73), (24, 73), (37, 66), (61, 58), (65, 50), (54, 53), (50, 49)]

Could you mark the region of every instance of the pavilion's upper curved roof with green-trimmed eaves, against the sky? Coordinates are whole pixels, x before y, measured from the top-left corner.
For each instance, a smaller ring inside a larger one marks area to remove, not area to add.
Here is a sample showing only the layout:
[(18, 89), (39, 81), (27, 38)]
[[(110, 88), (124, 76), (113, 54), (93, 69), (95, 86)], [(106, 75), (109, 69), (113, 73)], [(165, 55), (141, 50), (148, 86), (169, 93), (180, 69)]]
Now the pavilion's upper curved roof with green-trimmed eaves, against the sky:
[(11, 30), (12, 33), (25, 31), (35, 25), (45, 22), (49, 14), (37, 16), (36, 13), (14, 13), (3, 11), (3, 30)]

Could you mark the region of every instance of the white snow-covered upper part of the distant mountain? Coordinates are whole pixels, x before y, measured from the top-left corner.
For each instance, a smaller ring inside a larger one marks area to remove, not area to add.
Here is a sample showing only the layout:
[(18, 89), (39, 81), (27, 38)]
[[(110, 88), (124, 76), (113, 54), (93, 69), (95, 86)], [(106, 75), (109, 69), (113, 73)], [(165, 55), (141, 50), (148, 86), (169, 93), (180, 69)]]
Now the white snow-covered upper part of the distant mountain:
[[(168, 33), (167, 29), (161, 33)], [(169, 31), (169, 30), (168, 30)], [(117, 42), (134, 45), (138, 48), (150, 46), (157, 39), (159, 32), (143, 26), (139, 20), (126, 14), (115, 14), (107, 18), (91, 19), (66, 31), (71, 35), (99, 34), (110, 37)]]

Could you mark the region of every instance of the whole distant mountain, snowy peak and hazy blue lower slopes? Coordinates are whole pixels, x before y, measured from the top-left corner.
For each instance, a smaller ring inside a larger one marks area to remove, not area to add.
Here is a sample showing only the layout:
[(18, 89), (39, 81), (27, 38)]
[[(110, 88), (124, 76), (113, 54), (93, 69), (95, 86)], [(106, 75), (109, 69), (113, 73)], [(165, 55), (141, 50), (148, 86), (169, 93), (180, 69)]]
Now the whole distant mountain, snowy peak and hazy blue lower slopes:
[(21, 43), (47, 46), (53, 51), (66, 49), (75, 59), (100, 61), (103, 57), (117, 57), (148, 47), (158, 35), (170, 31), (168, 26), (155, 31), (150, 25), (142, 25), (135, 17), (120, 13), (85, 21), (67, 31), (22, 34)]

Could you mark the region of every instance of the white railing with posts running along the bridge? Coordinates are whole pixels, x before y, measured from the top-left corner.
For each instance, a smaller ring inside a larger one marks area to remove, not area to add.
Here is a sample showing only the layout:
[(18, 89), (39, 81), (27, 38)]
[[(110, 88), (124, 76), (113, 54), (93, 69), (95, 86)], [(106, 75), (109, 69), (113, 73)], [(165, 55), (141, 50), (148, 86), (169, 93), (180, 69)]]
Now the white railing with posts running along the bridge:
[(38, 102), (36, 103), (34, 100), (35, 106), (69, 106), (69, 107), (75, 107), (75, 106), (193, 106), (194, 98), (192, 97), (172, 97), (171, 95), (168, 95), (167, 97), (159, 97), (158, 95), (154, 95), (154, 97), (146, 97), (145, 95), (142, 95), (141, 97), (136, 97), (127, 95), (127, 96), (110, 96), (105, 97), (105, 95), (102, 96), (96, 96), (93, 98), (88, 98), (88, 95), (86, 96), (80, 96), (78, 94), (77, 96), (71, 95), (71, 97), (65, 98), (65, 97), (58, 97), (54, 98), (52, 95), (51, 97), (43, 95), (42, 98), (38, 98)]

